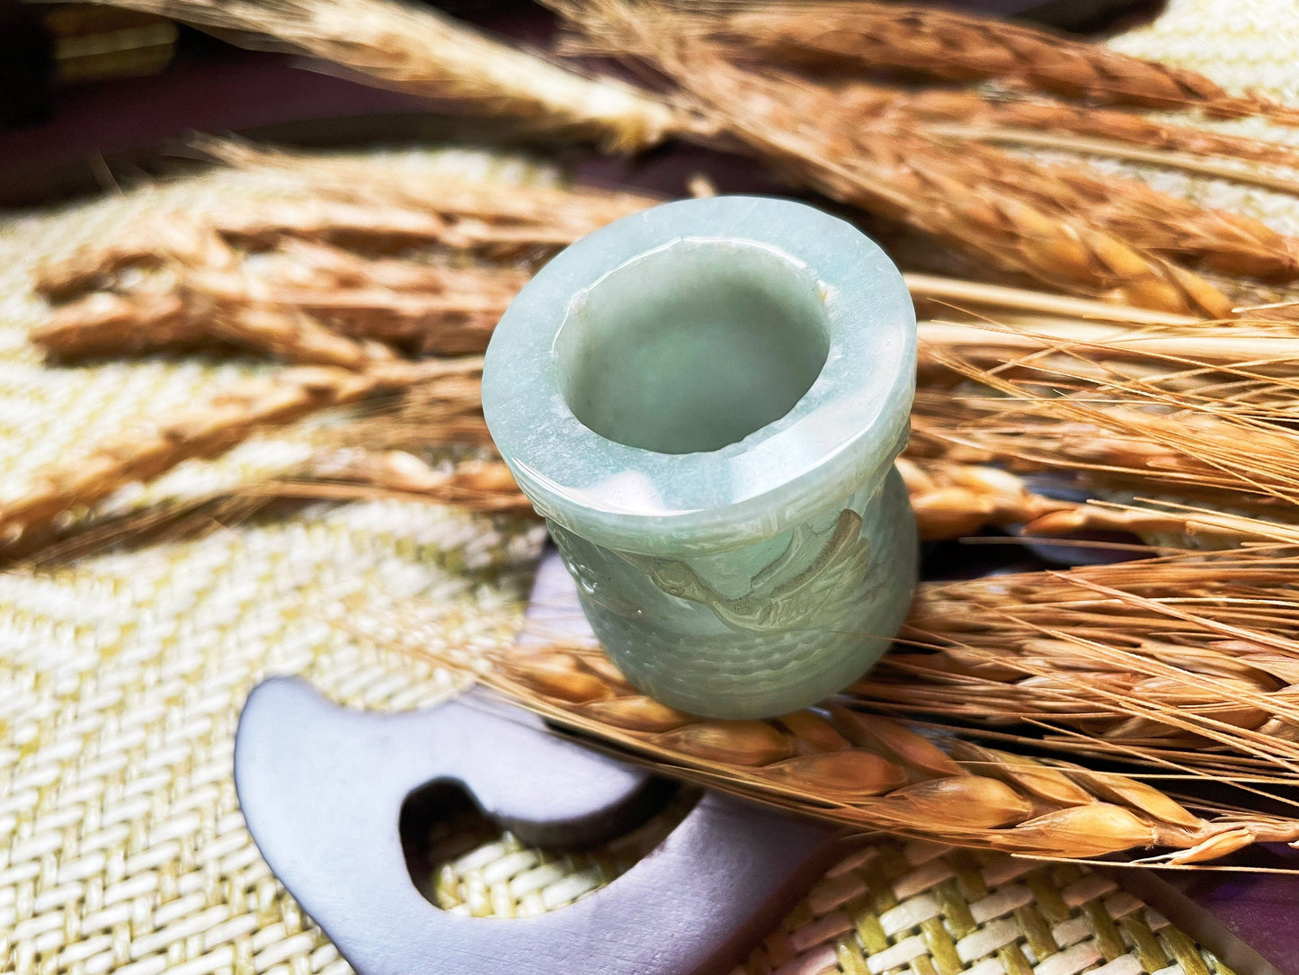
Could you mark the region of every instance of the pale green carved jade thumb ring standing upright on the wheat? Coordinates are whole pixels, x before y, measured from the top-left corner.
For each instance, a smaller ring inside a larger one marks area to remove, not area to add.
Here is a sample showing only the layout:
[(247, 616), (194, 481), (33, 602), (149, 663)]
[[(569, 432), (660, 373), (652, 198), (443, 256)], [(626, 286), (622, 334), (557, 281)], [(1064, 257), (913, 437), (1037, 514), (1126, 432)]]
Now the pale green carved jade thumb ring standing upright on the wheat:
[(556, 256), (496, 326), (482, 396), (627, 680), (763, 718), (842, 690), (902, 625), (914, 386), (916, 315), (879, 247), (717, 196)]

